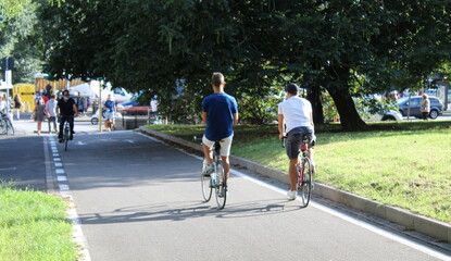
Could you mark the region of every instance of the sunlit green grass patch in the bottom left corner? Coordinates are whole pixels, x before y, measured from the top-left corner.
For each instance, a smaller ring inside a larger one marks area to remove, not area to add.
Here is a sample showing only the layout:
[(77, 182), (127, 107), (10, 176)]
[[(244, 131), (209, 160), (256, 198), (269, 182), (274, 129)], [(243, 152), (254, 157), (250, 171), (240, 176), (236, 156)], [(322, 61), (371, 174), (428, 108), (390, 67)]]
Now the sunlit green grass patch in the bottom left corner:
[(77, 260), (65, 208), (55, 196), (0, 185), (0, 260)]

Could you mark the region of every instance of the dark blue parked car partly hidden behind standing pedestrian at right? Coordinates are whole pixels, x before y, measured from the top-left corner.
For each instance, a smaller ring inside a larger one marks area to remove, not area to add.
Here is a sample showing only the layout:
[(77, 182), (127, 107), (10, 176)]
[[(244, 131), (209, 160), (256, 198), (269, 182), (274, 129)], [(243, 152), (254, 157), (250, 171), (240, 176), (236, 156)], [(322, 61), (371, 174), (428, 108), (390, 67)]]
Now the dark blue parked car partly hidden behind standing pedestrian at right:
[[(430, 112), (429, 117), (430, 119), (437, 119), (439, 115), (443, 114), (443, 103), (437, 99), (436, 97), (429, 97), (430, 101)], [(419, 107), (422, 105), (422, 97), (421, 96), (413, 96), (410, 99), (409, 97), (401, 98), (397, 101), (399, 107), (399, 112), (406, 116), (409, 112), (410, 107), (410, 115), (414, 117), (422, 117), (422, 112), (419, 110)]]

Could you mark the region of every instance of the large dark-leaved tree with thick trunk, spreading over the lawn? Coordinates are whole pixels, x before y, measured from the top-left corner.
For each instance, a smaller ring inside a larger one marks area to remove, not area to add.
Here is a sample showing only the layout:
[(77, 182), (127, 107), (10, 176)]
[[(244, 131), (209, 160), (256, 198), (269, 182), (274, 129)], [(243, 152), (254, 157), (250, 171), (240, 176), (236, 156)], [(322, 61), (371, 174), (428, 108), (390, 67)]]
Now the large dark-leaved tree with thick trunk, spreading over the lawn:
[(40, 26), (57, 77), (105, 77), (193, 112), (215, 71), (249, 104), (296, 82), (315, 108), (327, 90), (356, 130), (352, 96), (411, 87), (450, 61), (450, 12), (440, 0), (74, 0), (42, 5)]

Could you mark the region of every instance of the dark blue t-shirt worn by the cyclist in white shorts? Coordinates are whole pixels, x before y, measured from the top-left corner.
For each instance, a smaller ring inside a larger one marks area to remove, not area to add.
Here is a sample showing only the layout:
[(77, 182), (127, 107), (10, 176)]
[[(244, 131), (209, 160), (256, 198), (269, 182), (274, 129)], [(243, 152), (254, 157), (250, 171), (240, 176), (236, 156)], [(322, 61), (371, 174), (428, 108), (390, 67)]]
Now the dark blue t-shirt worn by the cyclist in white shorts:
[(227, 94), (213, 94), (202, 101), (202, 112), (206, 112), (205, 137), (212, 141), (234, 134), (234, 113), (238, 113), (237, 101)]

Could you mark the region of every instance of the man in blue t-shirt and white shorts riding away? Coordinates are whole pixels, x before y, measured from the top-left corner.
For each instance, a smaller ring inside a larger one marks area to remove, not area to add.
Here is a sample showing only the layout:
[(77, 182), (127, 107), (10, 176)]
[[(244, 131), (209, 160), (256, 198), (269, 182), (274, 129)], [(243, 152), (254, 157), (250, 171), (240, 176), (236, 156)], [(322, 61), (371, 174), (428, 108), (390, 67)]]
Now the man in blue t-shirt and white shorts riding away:
[(202, 147), (208, 163), (203, 174), (214, 171), (212, 147), (214, 141), (221, 141), (221, 158), (224, 162), (226, 178), (228, 178), (230, 171), (228, 156), (234, 137), (234, 125), (238, 124), (238, 105), (233, 96), (224, 92), (226, 82), (223, 74), (214, 73), (211, 85), (214, 94), (202, 101), (202, 122), (206, 124)]

